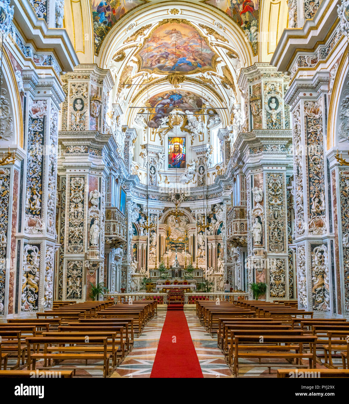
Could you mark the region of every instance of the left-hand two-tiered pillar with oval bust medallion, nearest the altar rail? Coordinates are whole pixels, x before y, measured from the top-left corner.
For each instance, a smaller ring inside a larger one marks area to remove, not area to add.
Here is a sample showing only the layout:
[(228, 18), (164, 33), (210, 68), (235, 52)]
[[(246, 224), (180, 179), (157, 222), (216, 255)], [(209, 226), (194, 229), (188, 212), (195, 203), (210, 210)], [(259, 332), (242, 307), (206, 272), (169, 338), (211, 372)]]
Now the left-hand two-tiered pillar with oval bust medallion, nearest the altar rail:
[(110, 210), (106, 218), (105, 209), (108, 148), (116, 147), (115, 137), (104, 134), (110, 132), (106, 109), (112, 79), (108, 70), (79, 65), (62, 81), (58, 296), (84, 301), (91, 299), (90, 282), (104, 282), (105, 221), (114, 215)]

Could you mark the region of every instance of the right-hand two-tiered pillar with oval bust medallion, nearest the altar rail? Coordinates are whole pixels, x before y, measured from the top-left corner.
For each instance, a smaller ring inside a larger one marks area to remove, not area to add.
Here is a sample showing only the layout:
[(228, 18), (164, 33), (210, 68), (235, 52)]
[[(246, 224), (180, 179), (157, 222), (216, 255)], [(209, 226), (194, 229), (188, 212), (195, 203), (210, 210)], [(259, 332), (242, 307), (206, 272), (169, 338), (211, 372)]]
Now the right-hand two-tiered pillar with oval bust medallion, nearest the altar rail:
[(286, 178), (292, 149), (283, 101), (288, 81), (274, 67), (255, 63), (242, 69), (238, 83), (247, 120), (233, 161), (243, 164), (246, 177), (248, 283), (265, 282), (268, 301), (289, 298)]

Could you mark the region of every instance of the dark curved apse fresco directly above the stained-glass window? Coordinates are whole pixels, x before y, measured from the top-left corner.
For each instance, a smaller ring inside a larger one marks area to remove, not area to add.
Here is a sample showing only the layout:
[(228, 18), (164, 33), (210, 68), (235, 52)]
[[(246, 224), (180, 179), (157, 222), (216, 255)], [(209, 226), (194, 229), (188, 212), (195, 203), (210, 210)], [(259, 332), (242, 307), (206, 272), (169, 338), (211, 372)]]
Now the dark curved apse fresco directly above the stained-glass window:
[(148, 121), (150, 128), (159, 128), (160, 124), (164, 123), (163, 118), (166, 120), (167, 114), (174, 108), (180, 108), (184, 112), (189, 110), (194, 113), (199, 111), (203, 105), (203, 101), (198, 95), (184, 90), (170, 90), (154, 95), (148, 103), (153, 108), (154, 114), (150, 116)]

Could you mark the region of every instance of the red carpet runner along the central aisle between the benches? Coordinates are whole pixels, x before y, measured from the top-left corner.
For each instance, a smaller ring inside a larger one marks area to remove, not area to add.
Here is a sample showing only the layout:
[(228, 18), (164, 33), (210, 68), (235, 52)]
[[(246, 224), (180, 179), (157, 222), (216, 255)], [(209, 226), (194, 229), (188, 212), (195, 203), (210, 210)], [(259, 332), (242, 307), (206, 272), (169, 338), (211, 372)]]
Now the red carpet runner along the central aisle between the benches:
[(184, 311), (167, 311), (150, 377), (203, 377)]

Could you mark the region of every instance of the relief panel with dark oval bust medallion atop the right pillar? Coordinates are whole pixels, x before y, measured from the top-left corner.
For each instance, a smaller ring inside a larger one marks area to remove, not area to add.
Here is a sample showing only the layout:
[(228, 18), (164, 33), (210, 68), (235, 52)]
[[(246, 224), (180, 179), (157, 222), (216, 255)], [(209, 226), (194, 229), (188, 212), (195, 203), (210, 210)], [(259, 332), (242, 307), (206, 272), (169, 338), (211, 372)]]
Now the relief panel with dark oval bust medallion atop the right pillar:
[(281, 84), (281, 82), (264, 83), (264, 109), (266, 111), (264, 127), (267, 129), (282, 128), (283, 101)]

